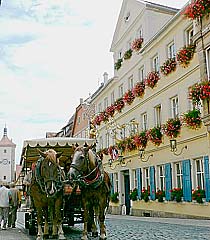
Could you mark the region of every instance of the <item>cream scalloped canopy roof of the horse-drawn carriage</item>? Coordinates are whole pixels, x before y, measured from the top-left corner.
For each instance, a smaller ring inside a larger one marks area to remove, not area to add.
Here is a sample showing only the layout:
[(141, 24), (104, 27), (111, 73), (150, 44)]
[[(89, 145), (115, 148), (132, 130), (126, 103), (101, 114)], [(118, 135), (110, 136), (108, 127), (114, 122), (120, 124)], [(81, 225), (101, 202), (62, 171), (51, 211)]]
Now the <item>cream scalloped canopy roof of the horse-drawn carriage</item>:
[(38, 149), (46, 151), (47, 149), (52, 148), (56, 152), (62, 152), (60, 162), (61, 165), (64, 166), (71, 160), (75, 145), (83, 145), (85, 143), (92, 145), (95, 143), (95, 139), (53, 137), (25, 140), (23, 142), (20, 165), (30, 168), (31, 164), (36, 162), (40, 157)]

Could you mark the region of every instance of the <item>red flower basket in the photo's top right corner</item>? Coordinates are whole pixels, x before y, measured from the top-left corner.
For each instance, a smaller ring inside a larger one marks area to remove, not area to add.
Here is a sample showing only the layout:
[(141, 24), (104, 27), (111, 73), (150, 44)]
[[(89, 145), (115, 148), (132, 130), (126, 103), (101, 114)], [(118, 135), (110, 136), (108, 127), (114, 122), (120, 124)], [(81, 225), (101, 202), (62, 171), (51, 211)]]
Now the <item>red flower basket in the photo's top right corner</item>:
[(209, 0), (193, 0), (183, 11), (183, 15), (192, 20), (203, 18), (210, 12)]

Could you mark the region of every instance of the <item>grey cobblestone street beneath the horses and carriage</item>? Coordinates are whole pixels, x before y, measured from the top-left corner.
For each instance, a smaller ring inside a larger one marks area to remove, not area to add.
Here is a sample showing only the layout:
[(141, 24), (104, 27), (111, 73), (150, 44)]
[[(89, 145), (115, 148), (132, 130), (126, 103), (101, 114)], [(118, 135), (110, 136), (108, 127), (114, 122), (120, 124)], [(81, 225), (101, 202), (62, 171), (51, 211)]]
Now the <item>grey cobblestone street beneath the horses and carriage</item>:
[[(18, 214), (18, 228), (0, 231), (0, 240), (35, 240), (23, 229), (23, 212)], [(133, 216), (107, 215), (107, 237), (110, 240), (209, 240), (210, 221), (175, 218), (140, 218)], [(81, 238), (82, 225), (69, 228), (67, 240)], [(90, 239), (98, 240), (97, 238)]]

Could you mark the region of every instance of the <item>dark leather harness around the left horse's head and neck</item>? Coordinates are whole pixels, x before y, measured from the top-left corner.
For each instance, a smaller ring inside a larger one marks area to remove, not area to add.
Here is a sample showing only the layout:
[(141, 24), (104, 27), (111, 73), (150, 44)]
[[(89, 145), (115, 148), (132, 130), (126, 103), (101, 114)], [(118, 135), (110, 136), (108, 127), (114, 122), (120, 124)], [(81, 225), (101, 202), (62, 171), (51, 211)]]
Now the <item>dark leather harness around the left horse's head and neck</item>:
[[(43, 193), (47, 195), (47, 197), (53, 198), (57, 195), (58, 192), (60, 192), (63, 189), (63, 182), (62, 182), (62, 170), (59, 165), (57, 165), (57, 171), (58, 171), (58, 181), (55, 180), (54, 178), (50, 178), (47, 181), (44, 181), (44, 178), (41, 176), (41, 164), (44, 161), (44, 158), (41, 157), (37, 161), (36, 168), (35, 168), (35, 180), (40, 186), (40, 189)], [(53, 163), (54, 164), (54, 163)], [(54, 194), (48, 194), (47, 188), (46, 188), (46, 183), (52, 181), (55, 182), (55, 193)]]

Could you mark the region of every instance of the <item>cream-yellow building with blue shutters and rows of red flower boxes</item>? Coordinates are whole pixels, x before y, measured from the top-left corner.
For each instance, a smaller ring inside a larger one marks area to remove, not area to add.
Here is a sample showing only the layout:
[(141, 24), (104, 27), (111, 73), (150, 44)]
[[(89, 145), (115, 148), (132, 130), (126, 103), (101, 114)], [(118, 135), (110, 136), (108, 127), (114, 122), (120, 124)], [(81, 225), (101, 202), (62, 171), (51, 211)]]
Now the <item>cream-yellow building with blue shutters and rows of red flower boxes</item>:
[[(112, 213), (124, 206), (126, 214), (140, 216), (209, 218), (209, 105), (196, 104), (190, 93), (203, 79), (201, 62), (209, 78), (210, 21), (202, 26), (203, 46), (199, 23), (182, 14), (185, 7), (122, 3), (111, 45), (114, 77), (91, 99), (98, 151), (105, 153), (112, 193), (119, 194)], [(138, 200), (131, 201), (135, 189)], [(172, 201), (176, 189), (185, 204)], [(196, 205), (201, 191), (205, 204)], [(149, 204), (141, 200), (146, 193)]]

